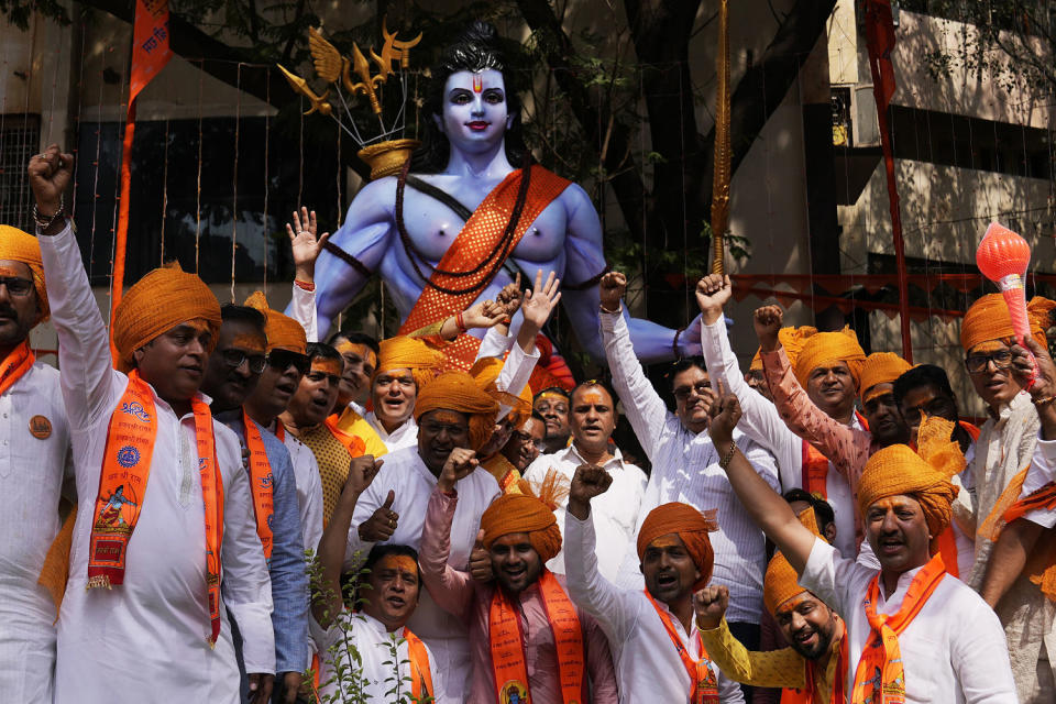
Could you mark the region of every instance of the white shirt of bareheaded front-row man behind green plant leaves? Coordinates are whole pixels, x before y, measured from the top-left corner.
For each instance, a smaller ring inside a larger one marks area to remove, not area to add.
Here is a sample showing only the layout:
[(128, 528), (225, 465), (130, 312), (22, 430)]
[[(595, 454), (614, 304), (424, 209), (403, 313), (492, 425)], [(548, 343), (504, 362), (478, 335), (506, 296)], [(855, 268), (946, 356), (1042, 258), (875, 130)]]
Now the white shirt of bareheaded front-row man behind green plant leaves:
[[(425, 587), (422, 587), (425, 592)], [(323, 630), (319, 623), (311, 619), (311, 635), (316, 642), (322, 645), (319, 657), (319, 682), (320, 694), (326, 700), (338, 693), (338, 683), (326, 684), (333, 676), (336, 666), (341, 664), (349, 671), (362, 668), (360, 682), (363, 689), (360, 690), (362, 696), (369, 702), (388, 702), (392, 700), (389, 691), (393, 689), (392, 679), (396, 672), (393, 667), (393, 646), (404, 637), (404, 628), (396, 631), (388, 631), (385, 625), (373, 616), (364, 613), (344, 612), (338, 620), (330, 624), (330, 628)], [(411, 630), (414, 632), (414, 630)], [(417, 634), (416, 634), (417, 635)], [(331, 647), (337, 646), (336, 651)], [(360, 662), (356, 663), (350, 654), (350, 648), (355, 648), (360, 656)], [(457, 700), (448, 698), (443, 690), (438, 685), (440, 676), (437, 670), (436, 658), (426, 645), (426, 652), (429, 654), (429, 673), (432, 678), (432, 696), (437, 704), (444, 702), (454, 702)], [(410, 657), (407, 654), (407, 641), (396, 645), (396, 661), (399, 662), (399, 676), (404, 681), (403, 691), (410, 693)], [(352, 696), (355, 684), (352, 676), (345, 681), (342, 688), (348, 696)], [(422, 693), (425, 694), (425, 693)], [(340, 698), (340, 697), (339, 697)], [(353, 697), (354, 698), (354, 697)]]

